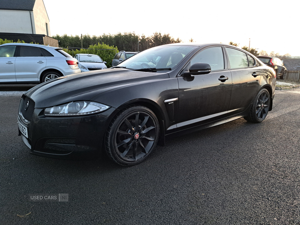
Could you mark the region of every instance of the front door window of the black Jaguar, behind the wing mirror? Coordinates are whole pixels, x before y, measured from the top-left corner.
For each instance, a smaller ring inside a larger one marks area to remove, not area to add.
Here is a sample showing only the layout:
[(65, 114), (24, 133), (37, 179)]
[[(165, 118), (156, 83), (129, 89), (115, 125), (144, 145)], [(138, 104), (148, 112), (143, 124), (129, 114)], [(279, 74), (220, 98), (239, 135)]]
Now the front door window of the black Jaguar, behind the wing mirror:
[(211, 71), (224, 69), (224, 56), (222, 47), (209, 47), (198, 52), (191, 60), (190, 65), (202, 62), (211, 67)]

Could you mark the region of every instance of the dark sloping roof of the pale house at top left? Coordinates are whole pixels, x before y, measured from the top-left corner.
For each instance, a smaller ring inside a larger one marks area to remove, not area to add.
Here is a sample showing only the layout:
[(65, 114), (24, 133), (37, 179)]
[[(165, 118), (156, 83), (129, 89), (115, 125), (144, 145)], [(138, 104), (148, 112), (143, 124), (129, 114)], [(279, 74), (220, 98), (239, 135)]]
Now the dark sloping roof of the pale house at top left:
[(0, 9), (32, 11), (35, 0), (0, 0)]

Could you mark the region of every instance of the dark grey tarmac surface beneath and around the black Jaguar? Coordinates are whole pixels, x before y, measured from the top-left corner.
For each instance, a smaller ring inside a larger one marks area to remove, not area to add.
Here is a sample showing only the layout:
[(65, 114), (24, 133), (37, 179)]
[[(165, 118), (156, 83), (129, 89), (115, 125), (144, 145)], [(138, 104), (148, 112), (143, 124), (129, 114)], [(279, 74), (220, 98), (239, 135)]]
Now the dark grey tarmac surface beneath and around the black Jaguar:
[(31, 155), (19, 99), (0, 92), (0, 224), (300, 224), (300, 88), (275, 90), (262, 123), (169, 139), (131, 167)]

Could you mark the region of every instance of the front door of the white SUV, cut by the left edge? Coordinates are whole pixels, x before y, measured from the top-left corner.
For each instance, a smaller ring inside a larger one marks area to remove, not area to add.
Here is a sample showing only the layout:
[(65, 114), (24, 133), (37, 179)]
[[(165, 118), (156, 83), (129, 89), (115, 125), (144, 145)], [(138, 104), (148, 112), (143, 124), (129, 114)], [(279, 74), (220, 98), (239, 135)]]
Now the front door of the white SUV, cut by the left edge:
[(15, 45), (0, 46), (0, 82), (15, 82)]

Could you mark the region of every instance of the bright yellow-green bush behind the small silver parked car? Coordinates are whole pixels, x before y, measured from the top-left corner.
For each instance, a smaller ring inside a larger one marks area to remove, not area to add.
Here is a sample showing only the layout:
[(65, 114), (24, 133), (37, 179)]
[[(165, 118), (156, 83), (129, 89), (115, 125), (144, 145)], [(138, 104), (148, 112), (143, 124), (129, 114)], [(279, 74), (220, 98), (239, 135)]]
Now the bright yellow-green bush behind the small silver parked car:
[(63, 48), (63, 50), (72, 56), (75, 56), (75, 54), (79, 54), (79, 53), (97, 54), (102, 58), (103, 61), (107, 62), (106, 63), (107, 67), (111, 67), (111, 62), (115, 55), (115, 52), (118, 52), (117, 47), (109, 46), (104, 43), (89, 45), (88, 48), (89, 49), (74, 49), (74, 50), (71, 50), (70, 48)]

